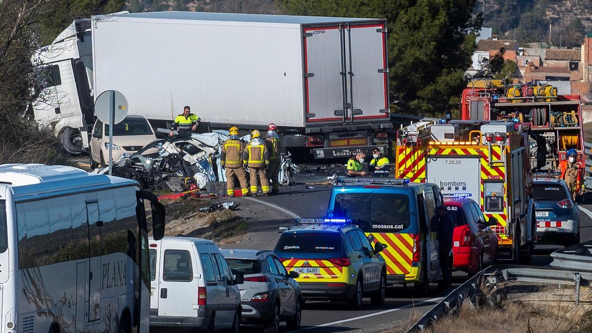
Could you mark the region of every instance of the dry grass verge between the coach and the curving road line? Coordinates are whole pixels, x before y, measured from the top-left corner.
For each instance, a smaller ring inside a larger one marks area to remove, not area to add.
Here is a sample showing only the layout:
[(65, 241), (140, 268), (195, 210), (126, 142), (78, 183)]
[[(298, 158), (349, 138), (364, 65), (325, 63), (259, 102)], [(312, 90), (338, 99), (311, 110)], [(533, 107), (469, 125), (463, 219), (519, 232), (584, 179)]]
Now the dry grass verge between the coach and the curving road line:
[(217, 244), (237, 242), (246, 234), (248, 225), (231, 210), (202, 213), (209, 200), (185, 198), (162, 200), (166, 207), (166, 236), (189, 236), (211, 239)]

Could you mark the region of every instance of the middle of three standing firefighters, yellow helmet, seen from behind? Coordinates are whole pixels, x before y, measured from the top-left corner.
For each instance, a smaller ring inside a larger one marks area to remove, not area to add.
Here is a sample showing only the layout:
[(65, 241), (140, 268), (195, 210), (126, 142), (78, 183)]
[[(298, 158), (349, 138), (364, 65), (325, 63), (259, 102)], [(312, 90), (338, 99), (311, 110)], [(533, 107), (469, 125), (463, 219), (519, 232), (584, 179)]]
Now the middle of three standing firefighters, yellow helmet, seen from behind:
[(261, 138), (261, 133), (258, 130), (251, 132), (251, 141), (244, 149), (243, 164), (249, 167), (251, 194), (257, 194), (259, 179), (263, 196), (267, 196), (269, 193), (269, 182), (265, 174), (265, 169), (269, 165), (269, 158), (267, 145)]

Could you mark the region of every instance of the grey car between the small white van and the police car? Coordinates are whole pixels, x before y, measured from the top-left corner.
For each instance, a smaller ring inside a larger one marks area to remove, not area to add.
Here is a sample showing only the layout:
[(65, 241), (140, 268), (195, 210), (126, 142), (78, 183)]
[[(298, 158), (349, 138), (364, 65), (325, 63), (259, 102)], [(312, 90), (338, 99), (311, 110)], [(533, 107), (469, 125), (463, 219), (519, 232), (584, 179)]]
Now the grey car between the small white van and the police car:
[(269, 250), (222, 249), (222, 254), (236, 276), (244, 274), (239, 286), (242, 322), (262, 324), (266, 332), (277, 332), (279, 322), (288, 329), (300, 329), (302, 295), (294, 278), (296, 272), (287, 272), (274, 252)]

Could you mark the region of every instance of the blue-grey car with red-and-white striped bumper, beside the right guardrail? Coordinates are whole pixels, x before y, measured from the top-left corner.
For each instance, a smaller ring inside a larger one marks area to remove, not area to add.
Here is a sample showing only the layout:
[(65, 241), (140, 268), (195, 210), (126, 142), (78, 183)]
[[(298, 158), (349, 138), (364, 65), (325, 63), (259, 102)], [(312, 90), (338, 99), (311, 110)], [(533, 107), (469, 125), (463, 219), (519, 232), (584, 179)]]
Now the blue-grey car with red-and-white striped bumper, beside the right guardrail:
[(580, 210), (565, 181), (542, 178), (532, 184), (537, 244), (572, 245), (580, 242)]

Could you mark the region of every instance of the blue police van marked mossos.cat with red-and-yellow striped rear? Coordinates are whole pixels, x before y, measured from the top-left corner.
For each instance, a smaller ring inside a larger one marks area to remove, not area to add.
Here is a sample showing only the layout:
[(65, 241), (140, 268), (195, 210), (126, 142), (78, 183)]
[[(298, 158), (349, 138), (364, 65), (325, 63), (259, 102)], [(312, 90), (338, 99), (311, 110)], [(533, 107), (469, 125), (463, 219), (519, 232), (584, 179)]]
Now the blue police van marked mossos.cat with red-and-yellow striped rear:
[[(429, 292), (440, 271), (436, 209), (442, 204), (437, 185), (394, 178), (337, 178), (327, 213), (352, 219), (386, 261), (388, 284), (414, 284), (416, 293)], [(449, 272), (449, 274), (451, 274)]]

